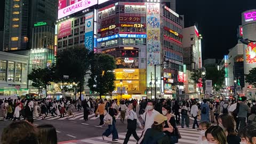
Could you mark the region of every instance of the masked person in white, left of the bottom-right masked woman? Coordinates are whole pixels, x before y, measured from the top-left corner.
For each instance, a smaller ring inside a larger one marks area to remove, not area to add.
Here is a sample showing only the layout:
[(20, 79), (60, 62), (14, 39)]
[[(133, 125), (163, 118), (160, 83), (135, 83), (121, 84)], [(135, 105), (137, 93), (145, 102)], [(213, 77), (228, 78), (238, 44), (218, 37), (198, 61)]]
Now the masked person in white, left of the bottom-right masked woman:
[(197, 144), (208, 144), (207, 139), (205, 137), (205, 131), (211, 126), (209, 122), (202, 122), (199, 124), (198, 132), (200, 132), (200, 136), (198, 138)]

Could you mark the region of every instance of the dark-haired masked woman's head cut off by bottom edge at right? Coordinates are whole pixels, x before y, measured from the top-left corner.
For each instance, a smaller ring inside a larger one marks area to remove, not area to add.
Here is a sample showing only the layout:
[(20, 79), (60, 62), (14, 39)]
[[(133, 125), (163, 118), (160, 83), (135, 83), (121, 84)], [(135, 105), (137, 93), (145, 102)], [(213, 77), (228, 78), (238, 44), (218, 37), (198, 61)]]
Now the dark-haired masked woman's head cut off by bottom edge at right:
[(222, 128), (218, 125), (213, 125), (205, 131), (205, 137), (209, 144), (227, 144), (227, 137)]

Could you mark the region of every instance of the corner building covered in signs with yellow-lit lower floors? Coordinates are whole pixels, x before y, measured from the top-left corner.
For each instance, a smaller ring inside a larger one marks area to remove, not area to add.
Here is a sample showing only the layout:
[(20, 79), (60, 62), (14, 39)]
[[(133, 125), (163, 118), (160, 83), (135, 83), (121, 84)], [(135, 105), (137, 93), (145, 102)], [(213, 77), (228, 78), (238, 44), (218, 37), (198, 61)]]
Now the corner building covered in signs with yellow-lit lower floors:
[(116, 59), (116, 96), (122, 90), (122, 98), (173, 98), (177, 87), (182, 93), (182, 28), (183, 18), (161, 3), (118, 2), (98, 10), (98, 52)]

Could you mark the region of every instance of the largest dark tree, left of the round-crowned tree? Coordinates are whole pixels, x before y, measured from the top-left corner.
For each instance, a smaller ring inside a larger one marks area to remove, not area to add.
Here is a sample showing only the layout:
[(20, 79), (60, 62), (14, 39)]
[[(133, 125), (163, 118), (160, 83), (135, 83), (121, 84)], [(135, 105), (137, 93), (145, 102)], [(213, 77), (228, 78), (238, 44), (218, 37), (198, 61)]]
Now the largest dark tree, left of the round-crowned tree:
[[(61, 85), (65, 82), (79, 83), (80, 97), (84, 90), (84, 77), (90, 70), (90, 59), (93, 57), (93, 52), (85, 49), (84, 46), (68, 47), (66, 50), (58, 53), (55, 83)], [(63, 78), (64, 75), (69, 78)]]

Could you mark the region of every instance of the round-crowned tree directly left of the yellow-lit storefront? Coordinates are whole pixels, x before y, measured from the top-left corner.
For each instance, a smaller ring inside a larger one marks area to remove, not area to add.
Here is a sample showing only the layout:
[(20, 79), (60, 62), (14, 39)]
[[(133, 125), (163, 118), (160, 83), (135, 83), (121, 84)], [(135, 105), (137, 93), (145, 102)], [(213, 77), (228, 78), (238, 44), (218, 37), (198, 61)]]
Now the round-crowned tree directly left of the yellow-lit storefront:
[(115, 59), (111, 55), (99, 53), (95, 54), (91, 60), (91, 75), (88, 86), (93, 92), (100, 95), (114, 91), (115, 74), (113, 70), (116, 68)]

